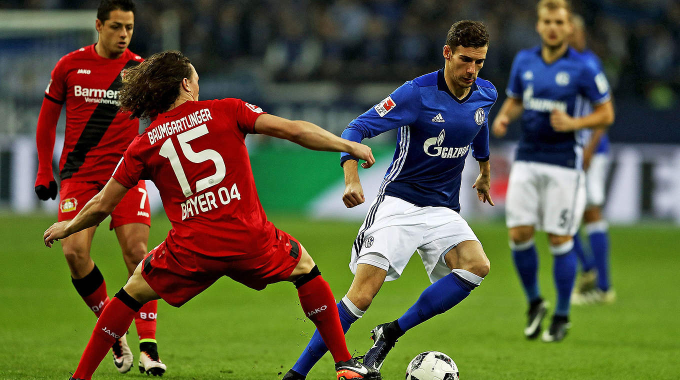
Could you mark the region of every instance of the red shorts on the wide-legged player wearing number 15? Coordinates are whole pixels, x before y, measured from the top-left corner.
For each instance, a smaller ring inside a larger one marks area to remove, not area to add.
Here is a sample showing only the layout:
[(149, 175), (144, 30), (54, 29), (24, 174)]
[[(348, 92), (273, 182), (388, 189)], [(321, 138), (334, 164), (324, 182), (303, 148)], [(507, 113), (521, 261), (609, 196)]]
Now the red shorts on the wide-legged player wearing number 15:
[(197, 255), (163, 241), (144, 258), (141, 275), (174, 307), (184, 305), (222, 276), (262, 290), (270, 283), (288, 279), (300, 261), (300, 243), (282, 230), (275, 230), (275, 234), (275, 243), (267, 252), (237, 258)]

